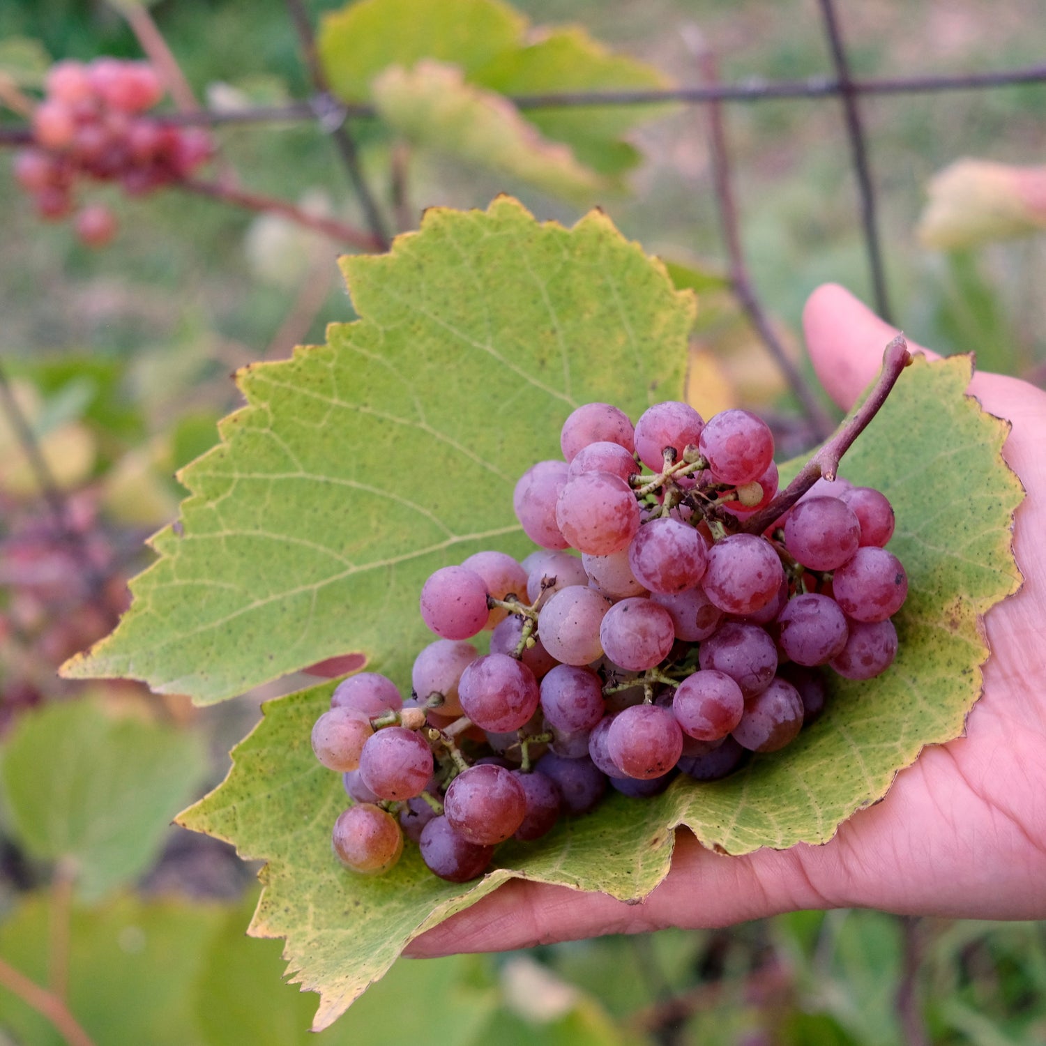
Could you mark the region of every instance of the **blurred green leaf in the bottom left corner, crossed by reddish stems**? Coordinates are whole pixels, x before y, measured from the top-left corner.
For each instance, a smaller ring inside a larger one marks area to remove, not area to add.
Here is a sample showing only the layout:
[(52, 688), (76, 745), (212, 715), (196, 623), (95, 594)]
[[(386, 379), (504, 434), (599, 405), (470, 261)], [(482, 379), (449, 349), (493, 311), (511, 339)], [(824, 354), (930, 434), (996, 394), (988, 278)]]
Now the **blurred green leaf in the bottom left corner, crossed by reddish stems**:
[[(226, 916), (227, 909), (183, 901), (75, 905), (68, 916), (68, 1003), (96, 1046), (201, 1044), (192, 996), (207, 945)], [(0, 958), (42, 985), (50, 977), (52, 919), (50, 897), (36, 894), (0, 924)], [(0, 1014), (16, 1042), (65, 1044), (6, 987), (0, 987)]]

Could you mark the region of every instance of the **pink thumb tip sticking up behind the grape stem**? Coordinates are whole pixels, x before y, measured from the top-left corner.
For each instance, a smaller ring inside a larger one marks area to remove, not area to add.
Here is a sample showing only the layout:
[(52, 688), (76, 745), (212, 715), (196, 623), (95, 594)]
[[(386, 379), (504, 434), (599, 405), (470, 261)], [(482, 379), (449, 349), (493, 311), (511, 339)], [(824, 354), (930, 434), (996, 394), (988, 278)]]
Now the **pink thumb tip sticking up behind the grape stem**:
[[(814, 370), (828, 395), (848, 410), (860, 392), (879, 373), (883, 349), (897, 334), (838, 283), (824, 283), (806, 300), (802, 313), (806, 348)], [(918, 345), (933, 360), (938, 357)]]

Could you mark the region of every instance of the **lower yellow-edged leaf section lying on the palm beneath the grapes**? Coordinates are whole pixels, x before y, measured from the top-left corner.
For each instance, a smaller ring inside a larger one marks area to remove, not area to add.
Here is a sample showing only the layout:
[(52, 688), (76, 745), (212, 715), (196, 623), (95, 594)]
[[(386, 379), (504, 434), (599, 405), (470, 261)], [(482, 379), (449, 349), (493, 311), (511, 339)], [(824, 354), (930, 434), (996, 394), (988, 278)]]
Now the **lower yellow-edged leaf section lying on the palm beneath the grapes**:
[(978, 615), (1020, 581), (1009, 527), (1022, 490), (1000, 456), (1007, 426), (964, 395), (970, 373), (967, 358), (916, 359), (845, 461), (847, 477), (877, 485), (897, 514), (891, 548), (910, 595), (894, 667), (869, 682), (833, 679), (817, 723), (726, 780), (680, 778), (645, 802), (612, 795), (537, 843), (504, 845), (495, 869), (463, 887), (427, 874), (412, 846), (387, 876), (363, 879), (331, 857), (329, 827), (346, 799), (309, 742), (333, 684), (269, 703), (225, 783), (180, 822), (268, 861), (250, 932), (287, 937), (291, 973), (321, 995), (314, 1026), (335, 1020), (411, 938), (509, 877), (635, 899), (667, 872), (678, 825), (730, 854), (824, 842), (923, 746), (957, 736), (987, 657)]

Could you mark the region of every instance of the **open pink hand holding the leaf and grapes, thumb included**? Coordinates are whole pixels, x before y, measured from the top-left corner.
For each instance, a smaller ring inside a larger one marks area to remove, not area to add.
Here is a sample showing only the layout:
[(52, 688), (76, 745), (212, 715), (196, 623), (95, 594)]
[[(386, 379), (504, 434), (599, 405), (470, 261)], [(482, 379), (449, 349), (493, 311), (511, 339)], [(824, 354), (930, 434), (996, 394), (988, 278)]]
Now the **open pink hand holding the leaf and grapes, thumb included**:
[[(803, 325), (818, 377), (849, 407), (895, 329), (834, 285), (811, 296)], [(925, 749), (882, 802), (822, 846), (727, 857), (679, 829), (672, 870), (639, 904), (513, 880), (412, 941), (407, 955), (722, 927), (796, 909), (1046, 918), (1046, 392), (990, 373), (976, 374), (969, 391), (1011, 422), (1003, 456), (1027, 497), (1014, 539), (1024, 585), (985, 617), (992, 656), (967, 735)]]

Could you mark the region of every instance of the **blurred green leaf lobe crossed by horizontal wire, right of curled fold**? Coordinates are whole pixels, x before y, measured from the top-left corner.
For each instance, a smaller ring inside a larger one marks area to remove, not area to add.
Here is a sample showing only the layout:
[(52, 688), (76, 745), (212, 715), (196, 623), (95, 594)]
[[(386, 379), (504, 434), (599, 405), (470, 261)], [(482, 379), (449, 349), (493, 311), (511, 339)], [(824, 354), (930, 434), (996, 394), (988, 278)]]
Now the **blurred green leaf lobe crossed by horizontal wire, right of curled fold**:
[[(469, 78), (509, 95), (668, 86), (653, 66), (613, 53), (579, 26), (551, 30), (501, 53)], [(593, 170), (620, 176), (639, 161), (638, 151), (621, 136), (666, 111), (666, 106), (582, 106), (526, 109), (523, 115), (546, 137), (568, 144)]]

